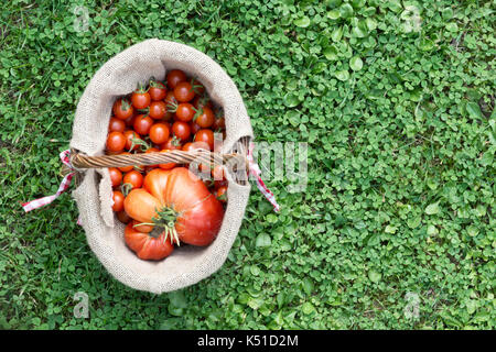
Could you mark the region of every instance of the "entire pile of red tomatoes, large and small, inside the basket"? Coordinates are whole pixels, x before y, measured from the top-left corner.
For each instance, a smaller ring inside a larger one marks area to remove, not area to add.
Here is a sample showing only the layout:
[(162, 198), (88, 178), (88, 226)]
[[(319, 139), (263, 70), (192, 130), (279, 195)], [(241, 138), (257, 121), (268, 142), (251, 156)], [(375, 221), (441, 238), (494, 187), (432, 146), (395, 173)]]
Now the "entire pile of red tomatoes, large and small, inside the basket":
[[(150, 80), (117, 99), (108, 125), (106, 153), (168, 153), (214, 150), (214, 133), (225, 138), (225, 120), (205, 87), (180, 69)], [(216, 144), (217, 145), (217, 144)], [(126, 224), (125, 240), (142, 260), (160, 261), (177, 245), (208, 245), (222, 224), (227, 201), (224, 167), (202, 179), (188, 165), (110, 167), (112, 209)]]

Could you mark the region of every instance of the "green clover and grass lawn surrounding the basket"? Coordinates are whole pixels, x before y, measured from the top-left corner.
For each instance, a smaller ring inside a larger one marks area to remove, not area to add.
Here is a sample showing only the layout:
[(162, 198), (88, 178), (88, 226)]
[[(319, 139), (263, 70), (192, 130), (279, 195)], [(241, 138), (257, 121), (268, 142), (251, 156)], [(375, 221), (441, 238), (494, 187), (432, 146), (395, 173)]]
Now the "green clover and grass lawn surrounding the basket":
[[(2, 6), (1, 327), (495, 328), (495, 1)], [(161, 296), (106, 273), (68, 194), (20, 207), (56, 191), (90, 77), (149, 37), (217, 61), (259, 141), (310, 146), (306, 190), (269, 182), (274, 215), (255, 188), (223, 268)]]

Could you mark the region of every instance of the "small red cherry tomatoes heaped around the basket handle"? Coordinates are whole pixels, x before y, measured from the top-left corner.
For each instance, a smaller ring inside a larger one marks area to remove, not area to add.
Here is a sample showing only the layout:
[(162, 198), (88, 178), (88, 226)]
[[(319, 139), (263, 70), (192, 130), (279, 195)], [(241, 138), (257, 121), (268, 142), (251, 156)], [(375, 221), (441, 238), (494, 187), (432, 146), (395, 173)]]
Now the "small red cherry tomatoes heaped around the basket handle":
[[(172, 69), (163, 81), (150, 79), (147, 87), (138, 87), (132, 94), (117, 99), (108, 125), (106, 153), (168, 153), (173, 150), (214, 151), (214, 132), (225, 138), (225, 120), (222, 109), (214, 107), (205, 87), (180, 69)], [(215, 141), (216, 142), (216, 141)], [(172, 169), (175, 163), (151, 166), (110, 167), (114, 187), (112, 209), (118, 219), (128, 223), (131, 219), (123, 210), (127, 194), (143, 185), (144, 175), (153, 168)], [(200, 165), (206, 172), (205, 165)], [(212, 177), (204, 180), (211, 193), (226, 204), (227, 180), (224, 167), (211, 169)]]

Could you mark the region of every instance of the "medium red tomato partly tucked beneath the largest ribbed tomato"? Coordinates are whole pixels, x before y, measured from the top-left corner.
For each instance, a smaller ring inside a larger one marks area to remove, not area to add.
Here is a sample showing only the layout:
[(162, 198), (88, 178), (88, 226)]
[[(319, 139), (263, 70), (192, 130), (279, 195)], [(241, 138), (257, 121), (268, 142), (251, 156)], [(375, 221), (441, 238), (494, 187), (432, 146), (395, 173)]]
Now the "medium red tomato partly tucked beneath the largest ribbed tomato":
[(140, 232), (139, 228), (133, 228), (130, 222), (125, 229), (126, 244), (136, 252), (139, 258), (160, 261), (171, 255), (174, 245), (171, 239), (165, 237), (165, 232), (153, 237), (151, 233)]

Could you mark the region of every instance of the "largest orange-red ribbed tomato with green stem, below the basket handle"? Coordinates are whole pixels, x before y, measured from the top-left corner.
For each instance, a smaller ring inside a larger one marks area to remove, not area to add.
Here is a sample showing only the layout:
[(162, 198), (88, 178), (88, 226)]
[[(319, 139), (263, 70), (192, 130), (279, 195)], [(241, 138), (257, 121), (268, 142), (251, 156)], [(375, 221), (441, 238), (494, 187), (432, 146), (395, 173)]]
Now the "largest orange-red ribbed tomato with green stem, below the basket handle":
[[(143, 224), (164, 229), (165, 237), (177, 244), (181, 241), (201, 246), (214, 241), (224, 217), (223, 205), (185, 167), (151, 170), (143, 188), (126, 197), (125, 210)], [(139, 231), (139, 227), (134, 229)]]

